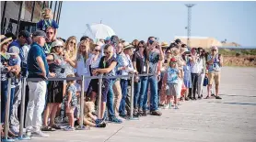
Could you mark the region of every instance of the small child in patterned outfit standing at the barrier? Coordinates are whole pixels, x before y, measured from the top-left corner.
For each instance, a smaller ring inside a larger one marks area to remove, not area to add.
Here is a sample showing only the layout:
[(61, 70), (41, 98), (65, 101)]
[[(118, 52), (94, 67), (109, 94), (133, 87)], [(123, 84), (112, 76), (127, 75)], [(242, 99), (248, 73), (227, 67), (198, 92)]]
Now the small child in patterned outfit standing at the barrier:
[[(69, 74), (66, 77), (75, 77), (74, 74)], [(76, 97), (76, 81), (67, 81), (66, 95), (64, 96), (65, 100), (65, 113), (68, 116), (69, 126), (64, 127), (64, 131), (74, 131), (75, 120), (74, 112), (77, 106), (77, 97)]]

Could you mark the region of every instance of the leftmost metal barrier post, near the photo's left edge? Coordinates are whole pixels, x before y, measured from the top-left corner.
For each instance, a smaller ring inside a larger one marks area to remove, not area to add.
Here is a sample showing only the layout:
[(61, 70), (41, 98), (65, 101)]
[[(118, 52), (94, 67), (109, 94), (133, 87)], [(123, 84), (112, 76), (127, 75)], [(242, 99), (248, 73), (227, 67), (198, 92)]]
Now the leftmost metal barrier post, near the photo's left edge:
[(7, 94), (7, 101), (6, 101), (5, 139), (3, 139), (3, 142), (15, 141), (14, 139), (8, 139), (10, 102), (11, 102), (11, 78), (8, 78), (7, 93), (8, 94)]

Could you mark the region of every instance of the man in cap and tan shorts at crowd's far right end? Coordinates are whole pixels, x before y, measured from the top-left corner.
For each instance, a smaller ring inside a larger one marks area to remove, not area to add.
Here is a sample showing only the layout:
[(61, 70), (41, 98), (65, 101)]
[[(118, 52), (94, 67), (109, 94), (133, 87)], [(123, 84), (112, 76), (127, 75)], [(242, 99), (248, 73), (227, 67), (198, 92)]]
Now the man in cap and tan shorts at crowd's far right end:
[(218, 54), (218, 48), (213, 46), (211, 49), (211, 54), (207, 57), (208, 63), (208, 88), (206, 99), (210, 97), (210, 90), (212, 89), (213, 82), (215, 82), (215, 99), (221, 99), (218, 95), (219, 93), (219, 82), (220, 82), (220, 71), (223, 65), (223, 57)]

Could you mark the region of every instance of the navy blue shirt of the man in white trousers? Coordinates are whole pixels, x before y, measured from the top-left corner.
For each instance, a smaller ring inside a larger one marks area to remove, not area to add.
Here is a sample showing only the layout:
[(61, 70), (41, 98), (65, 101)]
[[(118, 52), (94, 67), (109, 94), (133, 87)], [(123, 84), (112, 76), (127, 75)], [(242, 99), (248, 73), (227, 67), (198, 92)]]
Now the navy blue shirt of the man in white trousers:
[(31, 48), (29, 49), (29, 53), (28, 53), (28, 71), (29, 71), (28, 78), (42, 77), (41, 75), (39, 75), (39, 73), (41, 73), (41, 69), (36, 60), (37, 57), (41, 57), (41, 59), (43, 60), (46, 76), (48, 76), (49, 74), (49, 66), (46, 60), (44, 49), (42, 49), (39, 44), (34, 42), (31, 44)]

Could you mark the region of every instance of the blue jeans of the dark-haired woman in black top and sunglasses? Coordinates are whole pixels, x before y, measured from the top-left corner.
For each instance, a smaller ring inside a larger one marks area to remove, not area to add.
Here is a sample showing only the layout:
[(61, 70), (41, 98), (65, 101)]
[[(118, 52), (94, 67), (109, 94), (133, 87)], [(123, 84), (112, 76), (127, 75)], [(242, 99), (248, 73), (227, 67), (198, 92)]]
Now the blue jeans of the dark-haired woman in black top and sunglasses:
[(142, 109), (147, 84), (146, 76), (141, 76), (139, 82), (134, 82), (134, 108)]

